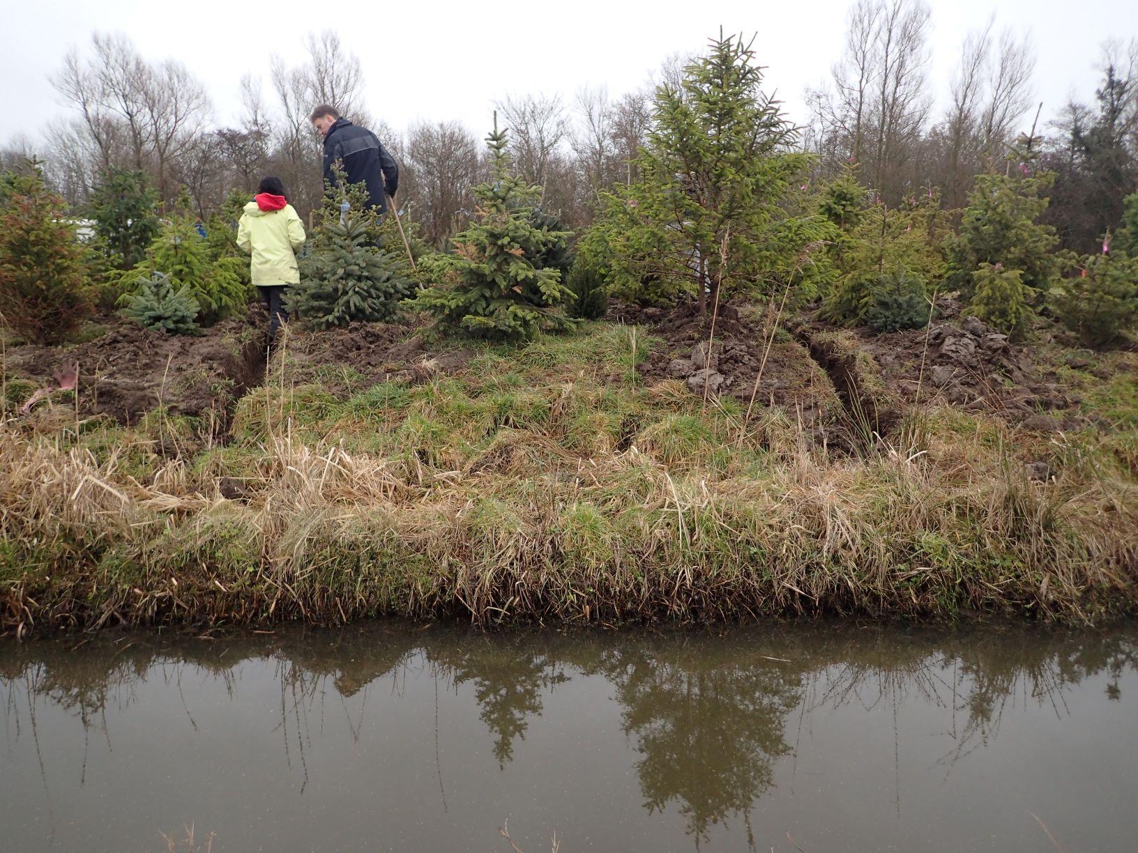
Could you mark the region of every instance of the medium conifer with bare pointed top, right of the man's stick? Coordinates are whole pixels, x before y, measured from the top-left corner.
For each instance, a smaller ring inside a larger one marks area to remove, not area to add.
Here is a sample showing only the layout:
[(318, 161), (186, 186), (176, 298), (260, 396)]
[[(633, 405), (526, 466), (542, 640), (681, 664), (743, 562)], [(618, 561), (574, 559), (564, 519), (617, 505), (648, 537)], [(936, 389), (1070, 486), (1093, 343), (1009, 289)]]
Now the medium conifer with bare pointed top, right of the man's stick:
[(414, 306), (438, 317), (443, 329), (480, 338), (526, 341), (541, 331), (576, 325), (561, 306), (572, 292), (561, 271), (536, 266), (564, 245), (566, 232), (535, 225), (531, 202), (541, 188), (527, 187), (510, 168), (506, 131), (486, 138), (493, 159), (492, 180), (475, 188), (478, 209), (465, 231), (454, 238), (445, 283), (419, 293)]

